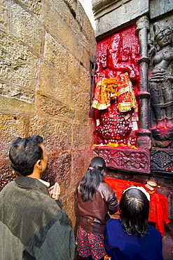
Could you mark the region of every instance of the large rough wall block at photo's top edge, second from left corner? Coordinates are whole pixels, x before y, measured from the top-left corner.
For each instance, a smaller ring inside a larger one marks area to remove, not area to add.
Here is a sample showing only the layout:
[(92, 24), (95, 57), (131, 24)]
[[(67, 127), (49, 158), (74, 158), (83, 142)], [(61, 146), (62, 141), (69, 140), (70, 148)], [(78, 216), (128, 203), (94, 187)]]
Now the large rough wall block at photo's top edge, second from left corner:
[(37, 53), (41, 48), (41, 24), (34, 16), (11, 1), (11, 34), (31, 46)]

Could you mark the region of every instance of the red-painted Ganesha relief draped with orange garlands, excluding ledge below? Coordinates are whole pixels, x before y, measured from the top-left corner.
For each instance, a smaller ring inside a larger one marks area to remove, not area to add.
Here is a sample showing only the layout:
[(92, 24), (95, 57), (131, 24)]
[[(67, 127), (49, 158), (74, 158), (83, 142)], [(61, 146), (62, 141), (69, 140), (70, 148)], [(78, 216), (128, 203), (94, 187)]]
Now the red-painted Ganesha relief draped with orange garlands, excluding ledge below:
[(96, 144), (136, 145), (138, 60), (139, 43), (134, 26), (99, 41), (92, 102)]

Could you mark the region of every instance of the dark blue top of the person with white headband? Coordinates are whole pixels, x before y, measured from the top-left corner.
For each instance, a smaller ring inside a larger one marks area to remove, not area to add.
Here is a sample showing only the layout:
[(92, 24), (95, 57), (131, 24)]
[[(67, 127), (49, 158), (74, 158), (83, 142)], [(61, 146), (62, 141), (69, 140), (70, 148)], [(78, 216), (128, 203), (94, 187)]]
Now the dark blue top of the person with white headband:
[(104, 247), (111, 260), (163, 260), (162, 238), (153, 226), (144, 237), (128, 235), (119, 219), (109, 219), (104, 229)]

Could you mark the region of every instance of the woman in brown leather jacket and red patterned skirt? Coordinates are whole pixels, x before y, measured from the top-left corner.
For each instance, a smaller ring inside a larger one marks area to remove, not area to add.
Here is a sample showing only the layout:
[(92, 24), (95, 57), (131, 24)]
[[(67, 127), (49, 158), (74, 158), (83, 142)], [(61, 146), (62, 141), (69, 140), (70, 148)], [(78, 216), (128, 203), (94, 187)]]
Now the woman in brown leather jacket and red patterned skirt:
[[(104, 227), (109, 214), (118, 211), (118, 199), (104, 182), (106, 164), (94, 157), (90, 167), (76, 187), (79, 225), (76, 244), (83, 259), (104, 259)], [(108, 214), (109, 212), (109, 214)]]

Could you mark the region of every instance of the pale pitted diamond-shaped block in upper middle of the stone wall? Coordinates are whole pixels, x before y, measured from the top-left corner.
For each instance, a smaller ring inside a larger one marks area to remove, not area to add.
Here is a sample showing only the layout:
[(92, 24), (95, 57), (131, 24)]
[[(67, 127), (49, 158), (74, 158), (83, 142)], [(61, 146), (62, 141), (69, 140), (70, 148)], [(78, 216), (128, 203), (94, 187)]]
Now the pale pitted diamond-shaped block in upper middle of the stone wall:
[(46, 32), (44, 46), (44, 58), (48, 63), (62, 72), (67, 72), (67, 51), (50, 34)]

